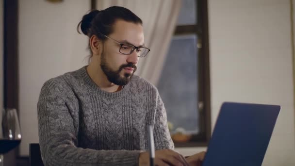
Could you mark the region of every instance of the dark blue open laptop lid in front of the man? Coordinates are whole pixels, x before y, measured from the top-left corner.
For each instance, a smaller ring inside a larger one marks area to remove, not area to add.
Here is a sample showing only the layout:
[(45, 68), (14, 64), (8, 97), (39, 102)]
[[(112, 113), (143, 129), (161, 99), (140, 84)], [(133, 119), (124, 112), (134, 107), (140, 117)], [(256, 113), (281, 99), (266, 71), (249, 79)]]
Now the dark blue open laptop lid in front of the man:
[(202, 166), (261, 166), (279, 105), (224, 102)]

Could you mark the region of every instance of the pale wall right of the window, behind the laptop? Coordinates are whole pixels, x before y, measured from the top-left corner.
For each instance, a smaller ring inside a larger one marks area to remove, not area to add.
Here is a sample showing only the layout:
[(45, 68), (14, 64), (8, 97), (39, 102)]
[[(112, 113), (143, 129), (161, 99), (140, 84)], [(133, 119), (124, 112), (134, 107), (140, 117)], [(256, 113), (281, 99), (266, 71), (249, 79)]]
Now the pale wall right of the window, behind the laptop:
[(212, 125), (223, 101), (279, 104), (263, 166), (295, 166), (290, 0), (208, 0), (208, 6)]

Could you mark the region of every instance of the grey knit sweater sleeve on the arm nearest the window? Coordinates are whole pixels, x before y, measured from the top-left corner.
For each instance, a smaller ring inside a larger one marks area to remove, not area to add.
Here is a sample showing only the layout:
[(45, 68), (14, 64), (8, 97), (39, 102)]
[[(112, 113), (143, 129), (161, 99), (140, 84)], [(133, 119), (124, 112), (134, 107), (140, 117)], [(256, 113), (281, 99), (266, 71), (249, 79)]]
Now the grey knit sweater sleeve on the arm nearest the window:
[(164, 103), (157, 91), (156, 114), (154, 125), (155, 149), (174, 149), (171, 139)]

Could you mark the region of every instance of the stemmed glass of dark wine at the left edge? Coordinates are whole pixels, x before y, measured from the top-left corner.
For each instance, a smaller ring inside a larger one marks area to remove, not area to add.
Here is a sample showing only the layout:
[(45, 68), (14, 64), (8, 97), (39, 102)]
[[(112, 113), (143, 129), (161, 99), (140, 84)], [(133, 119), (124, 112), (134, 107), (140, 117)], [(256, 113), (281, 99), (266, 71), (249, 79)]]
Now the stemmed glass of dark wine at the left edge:
[(3, 109), (0, 122), (0, 166), (3, 166), (3, 154), (16, 148), (21, 141), (21, 133), (16, 109)]

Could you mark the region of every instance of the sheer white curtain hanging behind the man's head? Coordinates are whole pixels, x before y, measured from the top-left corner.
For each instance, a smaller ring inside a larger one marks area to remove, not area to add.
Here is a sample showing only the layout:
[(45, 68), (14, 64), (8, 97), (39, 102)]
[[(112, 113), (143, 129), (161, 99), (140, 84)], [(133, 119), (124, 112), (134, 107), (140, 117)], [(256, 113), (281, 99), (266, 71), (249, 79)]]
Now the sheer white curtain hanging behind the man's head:
[(97, 9), (122, 6), (143, 20), (148, 56), (140, 58), (136, 74), (157, 84), (181, 7), (181, 0), (97, 0)]

